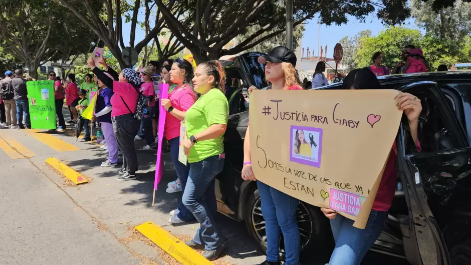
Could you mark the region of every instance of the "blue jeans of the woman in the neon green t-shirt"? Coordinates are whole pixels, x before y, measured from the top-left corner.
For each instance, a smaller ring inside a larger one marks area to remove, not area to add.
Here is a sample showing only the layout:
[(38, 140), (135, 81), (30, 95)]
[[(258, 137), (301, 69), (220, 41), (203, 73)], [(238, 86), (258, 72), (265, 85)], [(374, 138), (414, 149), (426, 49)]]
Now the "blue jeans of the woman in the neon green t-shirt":
[(222, 171), (223, 166), (224, 158), (219, 155), (190, 163), (190, 173), (183, 192), (183, 204), (200, 224), (193, 241), (204, 245), (205, 250), (214, 250), (225, 240), (216, 226), (217, 204), (214, 193), (215, 176)]

